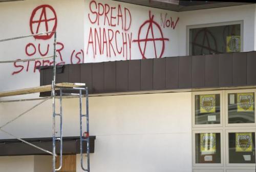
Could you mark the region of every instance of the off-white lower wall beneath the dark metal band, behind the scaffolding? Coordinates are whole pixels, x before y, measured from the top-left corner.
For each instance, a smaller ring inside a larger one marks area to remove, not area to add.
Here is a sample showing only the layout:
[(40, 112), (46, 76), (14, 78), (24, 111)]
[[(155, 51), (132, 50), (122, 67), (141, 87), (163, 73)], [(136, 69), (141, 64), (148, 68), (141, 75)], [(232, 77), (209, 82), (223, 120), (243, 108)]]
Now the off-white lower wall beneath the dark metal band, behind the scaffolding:
[[(0, 123), (35, 103), (1, 103)], [(191, 171), (191, 93), (90, 97), (89, 105), (90, 135), (96, 136), (92, 171)], [(22, 138), (51, 137), (51, 108), (49, 100), (4, 130)], [(79, 135), (78, 99), (63, 101), (63, 135)], [(79, 162), (77, 155), (77, 171)]]

